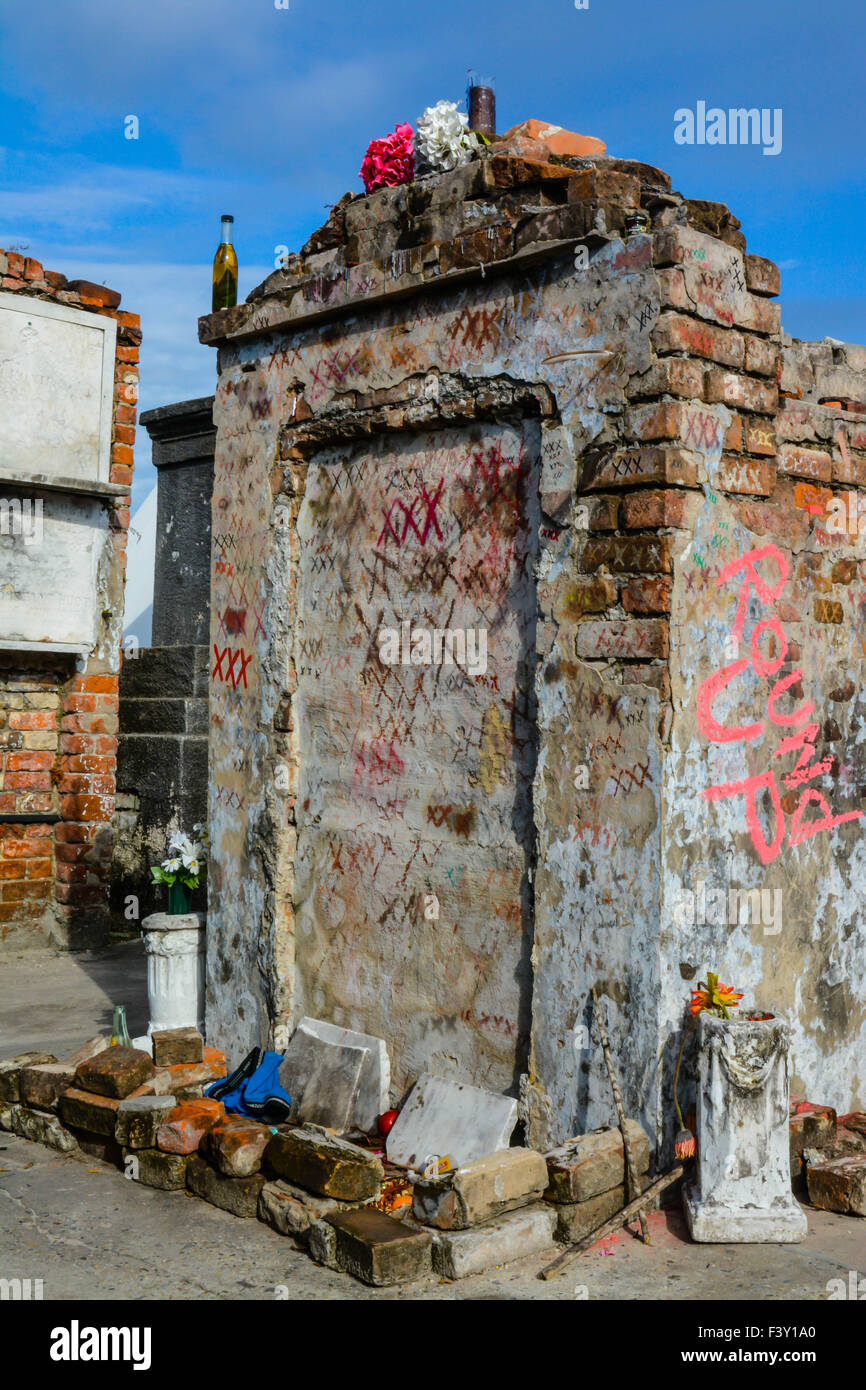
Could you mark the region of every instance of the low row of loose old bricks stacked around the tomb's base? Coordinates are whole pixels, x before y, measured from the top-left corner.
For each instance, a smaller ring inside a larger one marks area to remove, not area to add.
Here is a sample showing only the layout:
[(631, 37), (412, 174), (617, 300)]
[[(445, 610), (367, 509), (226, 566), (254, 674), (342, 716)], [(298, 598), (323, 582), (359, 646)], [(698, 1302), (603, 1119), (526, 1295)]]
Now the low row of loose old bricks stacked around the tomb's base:
[[(628, 1201), (617, 1127), (418, 1177), (320, 1125), (227, 1112), (203, 1095), (225, 1072), (195, 1029), (154, 1033), (153, 1058), (104, 1036), (63, 1061), (28, 1052), (0, 1062), (0, 1129), (259, 1218), (317, 1264), (377, 1287), (463, 1279), (577, 1243)], [(627, 1127), (644, 1191), (649, 1138), (635, 1120)], [(792, 1101), (791, 1172), (815, 1207), (866, 1215), (866, 1115), (837, 1122), (828, 1106)]]

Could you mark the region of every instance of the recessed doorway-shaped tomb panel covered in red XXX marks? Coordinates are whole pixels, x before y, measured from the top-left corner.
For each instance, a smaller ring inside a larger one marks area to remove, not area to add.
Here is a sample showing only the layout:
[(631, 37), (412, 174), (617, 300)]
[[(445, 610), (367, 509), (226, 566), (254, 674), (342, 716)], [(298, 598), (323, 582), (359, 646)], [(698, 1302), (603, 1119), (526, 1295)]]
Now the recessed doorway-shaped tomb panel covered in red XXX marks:
[(398, 1090), (510, 1090), (530, 1015), (538, 421), (322, 450), (297, 520), (299, 1011)]

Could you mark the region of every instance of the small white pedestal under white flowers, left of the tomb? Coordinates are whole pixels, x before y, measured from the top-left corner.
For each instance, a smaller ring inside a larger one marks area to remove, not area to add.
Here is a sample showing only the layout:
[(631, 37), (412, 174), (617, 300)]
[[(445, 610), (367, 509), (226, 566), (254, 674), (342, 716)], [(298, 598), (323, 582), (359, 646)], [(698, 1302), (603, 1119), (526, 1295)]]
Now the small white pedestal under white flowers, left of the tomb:
[(153, 912), (142, 922), (147, 952), (147, 1036), (160, 1029), (197, 1029), (204, 1037), (203, 912)]

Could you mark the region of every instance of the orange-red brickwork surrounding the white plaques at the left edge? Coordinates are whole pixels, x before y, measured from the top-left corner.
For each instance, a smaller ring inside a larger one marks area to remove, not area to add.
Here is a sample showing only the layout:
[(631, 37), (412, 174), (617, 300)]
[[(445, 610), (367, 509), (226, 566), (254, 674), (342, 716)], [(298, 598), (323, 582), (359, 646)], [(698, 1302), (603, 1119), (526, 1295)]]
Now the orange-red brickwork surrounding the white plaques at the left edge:
[(113, 488), (100, 498), (108, 512), (108, 550), (101, 557), (96, 646), (83, 670), (72, 656), (0, 656), (0, 942), (18, 949), (49, 937), (57, 945), (93, 945), (108, 926), (140, 320), (118, 307), (114, 291), (70, 281), (14, 252), (0, 250), (0, 289), (107, 316), (118, 325)]

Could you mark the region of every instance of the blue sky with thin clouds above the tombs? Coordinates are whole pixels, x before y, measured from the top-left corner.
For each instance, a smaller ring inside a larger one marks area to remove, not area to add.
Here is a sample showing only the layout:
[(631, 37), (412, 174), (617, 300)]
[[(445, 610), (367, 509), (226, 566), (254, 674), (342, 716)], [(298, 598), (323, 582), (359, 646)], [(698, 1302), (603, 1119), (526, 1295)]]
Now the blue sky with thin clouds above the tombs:
[[(142, 314), (140, 409), (207, 395), (220, 214), (243, 297), (361, 190), (367, 142), (461, 100), (471, 67), (499, 129), (598, 135), (727, 203), (783, 267), (788, 332), (866, 342), (865, 38), (863, 0), (0, 0), (0, 246)], [(676, 145), (699, 100), (781, 107), (781, 153)], [(154, 478), (139, 436), (133, 506)]]

